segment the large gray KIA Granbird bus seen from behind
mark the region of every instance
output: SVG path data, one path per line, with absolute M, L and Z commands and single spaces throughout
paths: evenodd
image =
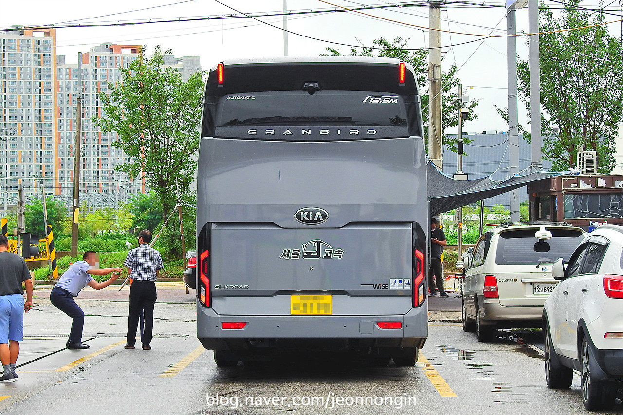
M 287 350 L 413 366 L 428 334 L 421 97 L 397 59 L 228 60 L 197 171 L 197 337 L 218 366 Z

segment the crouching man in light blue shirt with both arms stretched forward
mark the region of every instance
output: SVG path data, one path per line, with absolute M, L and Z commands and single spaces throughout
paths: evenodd
M 96 290 L 101 290 L 104 287 L 108 287 L 112 282 L 119 278 L 121 275 L 121 268 L 92 268 L 98 264 L 100 260 L 99 255 L 94 250 L 87 250 L 82 255 L 82 260 L 77 261 L 74 265 L 69 267 L 67 271 L 60 277 L 59 282 L 54 285 L 52 292 L 50 292 L 50 302 L 54 304 L 54 307 L 67 314 L 74 319 L 72 323 L 72 331 L 69 333 L 69 340 L 67 340 L 67 348 L 72 350 L 88 349 L 88 345 L 82 343 L 82 328 L 84 327 L 84 312 L 76 304 L 74 297 L 78 296 L 80 290 L 86 285 Z M 91 277 L 91 275 L 108 275 L 113 273 L 110 279 L 104 282 L 97 282 Z

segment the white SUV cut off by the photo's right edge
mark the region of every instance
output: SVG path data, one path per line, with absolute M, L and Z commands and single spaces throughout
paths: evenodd
M 623 227 L 603 225 L 578 246 L 543 308 L 545 378 L 569 388 L 581 373 L 586 409 L 609 409 L 623 378 Z

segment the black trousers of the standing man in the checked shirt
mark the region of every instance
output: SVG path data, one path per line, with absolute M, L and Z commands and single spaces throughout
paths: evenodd
M 128 315 L 128 345 L 136 343 L 136 329 L 138 316 L 143 310 L 145 328 L 143 330 L 143 345 L 151 343 L 151 334 L 154 327 L 154 304 L 156 303 L 156 284 L 153 281 L 133 280 L 130 285 L 130 315 Z

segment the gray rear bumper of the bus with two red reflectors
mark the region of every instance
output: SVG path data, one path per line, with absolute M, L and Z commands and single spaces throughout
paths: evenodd
M 240 329 L 224 329 L 224 322 L 244 322 Z M 380 328 L 379 322 L 400 322 L 401 328 Z M 207 349 L 257 348 L 422 348 L 428 336 L 424 305 L 404 315 L 235 316 L 197 309 L 197 338 Z

